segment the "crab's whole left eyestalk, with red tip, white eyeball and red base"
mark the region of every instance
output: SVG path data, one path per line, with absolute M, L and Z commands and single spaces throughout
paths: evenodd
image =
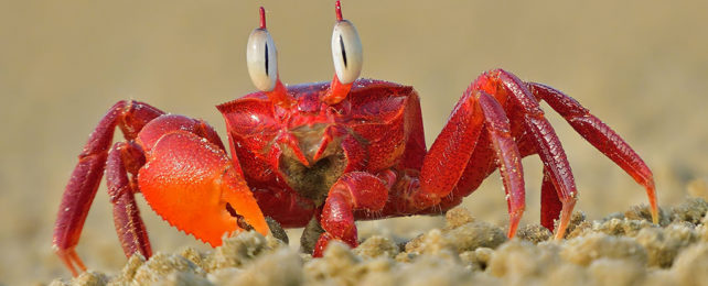
M 278 75 L 278 51 L 272 36 L 266 29 L 266 10 L 260 8 L 260 26 L 248 36 L 246 47 L 248 75 L 260 91 L 265 92 L 273 105 L 289 108 L 294 99 L 288 95 Z

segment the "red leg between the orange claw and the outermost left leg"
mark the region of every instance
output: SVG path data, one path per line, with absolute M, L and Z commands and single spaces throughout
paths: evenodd
M 128 179 L 128 170 L 133 175 L 144 164 L 144 156 L 135 143 L 118 142 L 108 153 L 106 183 L 108 196 L 114 205 L 114 223 L 126 256 L 138 252 L 143 257 L 152 256 L 146 226 L 140 218 L 135 194 L 138 185 Z

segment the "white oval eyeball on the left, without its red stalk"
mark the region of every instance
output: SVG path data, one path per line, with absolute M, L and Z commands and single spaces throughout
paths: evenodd
M 250 80 L 260 91 L 271 91 L 278 79 L 278 51 L 270 33 L 256 29 L 248 36 L 246 64 Z

